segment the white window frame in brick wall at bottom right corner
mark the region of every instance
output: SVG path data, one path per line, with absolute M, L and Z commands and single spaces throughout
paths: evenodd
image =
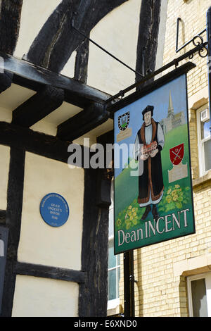
M 201 273 L 199 275 L 193 275 L 187 277 L 187 292 L 188 292 L 188 308 L 189 316 L 193 317 L 193 301 L 191 293 L 191 282 L 193 280 L 205 279 L 206 294 L 207 294 L 207 313 L 208 317 L 211 317 L 211 272 L 210 273 Z

